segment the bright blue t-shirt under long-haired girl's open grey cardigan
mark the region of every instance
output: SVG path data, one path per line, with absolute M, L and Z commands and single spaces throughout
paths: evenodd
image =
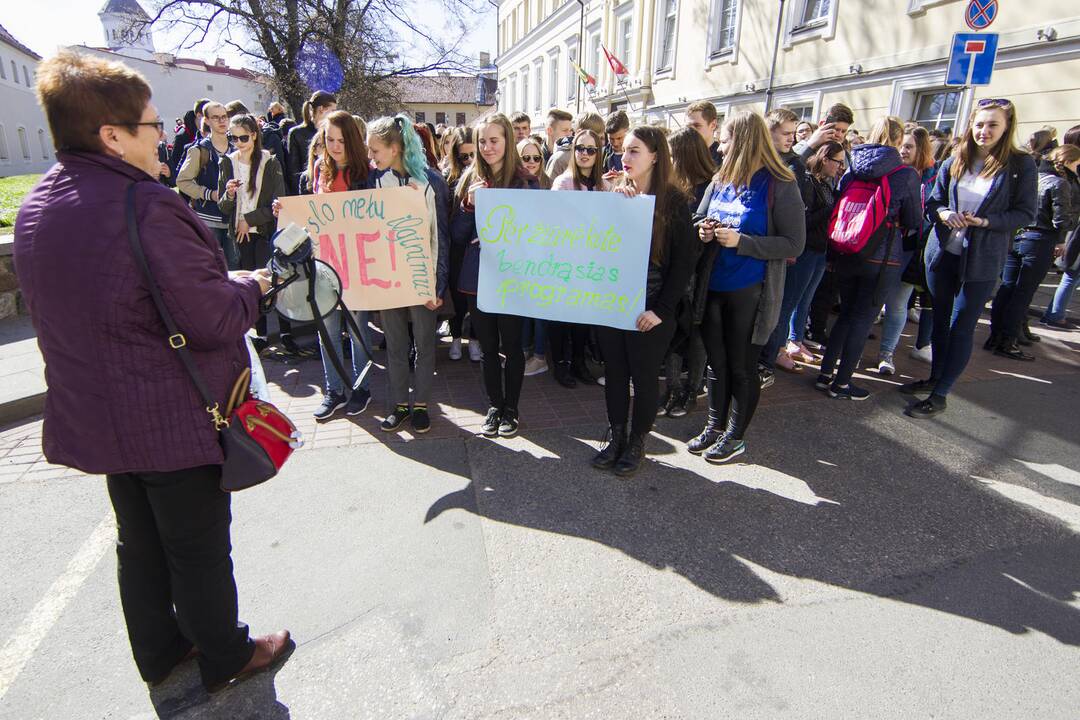
M 725 186 L 713 190 L 708 217 L 744 235 L 764 235 L 769 231 L 769 171 L 764 167 L 750 179 L 750 187 Z M 741 290 L 765 280 L 765 260 L 739 255 L 734 247 L 721 247 L 713 263 L 708 289 Z

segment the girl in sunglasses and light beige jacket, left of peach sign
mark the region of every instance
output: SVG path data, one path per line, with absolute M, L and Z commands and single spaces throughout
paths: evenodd
M 285 194 L 285 176 L 281 163 L 262 149 L 262 132 L 254 116 L 234 116 L 228 139 L 235 149 L 218 165 L 217 206 L 240 250 L 241 269 L 265 268 L 270 259 L 270 237 L 278 229 L 273 201 Z M 267 347 L 266 315 L 259 315 L 255 332 L 255 348 L 261 351 Z

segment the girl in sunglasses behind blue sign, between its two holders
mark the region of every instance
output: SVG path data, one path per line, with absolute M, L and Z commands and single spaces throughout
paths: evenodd
M 523 141 L 524 142 L 524 141 Z M 566 172 L 552 182 L 552 190 L 581 190 L 585 192 L 610 190 L 604 179 L 604 163 L 600 161 L 603 144 L 600 136 L 591 130 L 579 130 L 573 136 L 570 163 Z M 554 362 L 555 380 L 564 388 L 575 388 L 578 382 L 595 385 L 596 379 L 585 365 L 585 343 L 589 341 L 589 325 L 578 323 L 548 323 L 548 342 Z M 570 345 L 570 357 L 566 347 Z

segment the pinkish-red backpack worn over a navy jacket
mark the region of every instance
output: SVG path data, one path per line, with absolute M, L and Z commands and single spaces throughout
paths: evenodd
M 833 250 L 861 260 L 874 255 L 881 240 L 896 227 L 886 220 L 892 199 L 889 176 L 903 168 L 901 165 L 881 177 L 848 184 L 828 220 L 828 246 Z

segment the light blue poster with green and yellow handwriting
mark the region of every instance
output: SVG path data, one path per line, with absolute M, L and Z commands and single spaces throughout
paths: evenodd
M 611 192 L 476 191 L 480 309 L 636 329 L 653 205 Z

